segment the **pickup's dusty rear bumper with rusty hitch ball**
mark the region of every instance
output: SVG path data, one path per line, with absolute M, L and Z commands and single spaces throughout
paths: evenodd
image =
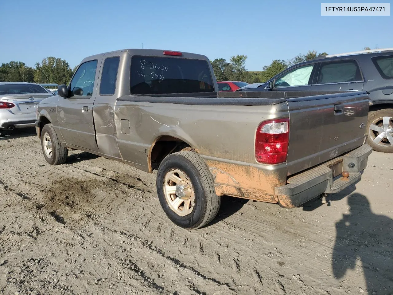
M 367 166 L 371 151 L 371 147 L 363 145 L 320 166 L 289 177 L 288 184 L 275 188 L 280 205 L 294 208 L 318 195 L 334 194 L 356 183 Z M 347 179 L 342 179 L 342 171 L 349 172 Z

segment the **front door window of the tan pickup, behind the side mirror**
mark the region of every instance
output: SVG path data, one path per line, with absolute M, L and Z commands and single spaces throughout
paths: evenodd
M 79 66 L 71 81 L 71 91 L 77 96 L 92 96 L 98 61 L 86 61 Z

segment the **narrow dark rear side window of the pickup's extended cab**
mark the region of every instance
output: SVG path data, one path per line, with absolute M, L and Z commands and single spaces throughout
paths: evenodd
M 116 77 L 118 76 L 120 57 L 108 57 L 104 61 L 102 69 L 99 94 L 111 95 L 116 90 Z

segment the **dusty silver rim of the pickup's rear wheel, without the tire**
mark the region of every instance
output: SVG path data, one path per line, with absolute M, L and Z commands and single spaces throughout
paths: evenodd
M 195 192 L 190 179 L 183 171 L 168 171 L 164 178 L 163 191 L 169 208 L 178 216 L 186 216 L 193 211 Z

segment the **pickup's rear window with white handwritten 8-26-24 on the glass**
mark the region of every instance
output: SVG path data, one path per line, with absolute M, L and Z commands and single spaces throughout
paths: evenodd
M 132 94 L 213 92 L 208 63 L 178 57 L 133 56 Z

